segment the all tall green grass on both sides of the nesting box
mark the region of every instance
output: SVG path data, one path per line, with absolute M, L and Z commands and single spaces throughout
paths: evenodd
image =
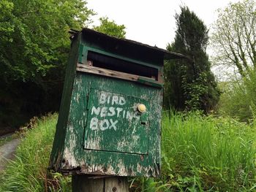
M 56 119 L 34 120 L 0 191 L 71 191 L 70 177 L 47 174 Z M 164 113 L 162 122 L 162 176 L 138 178 L 131 191 L 256 191 L 256 125 L 197 112 Z

